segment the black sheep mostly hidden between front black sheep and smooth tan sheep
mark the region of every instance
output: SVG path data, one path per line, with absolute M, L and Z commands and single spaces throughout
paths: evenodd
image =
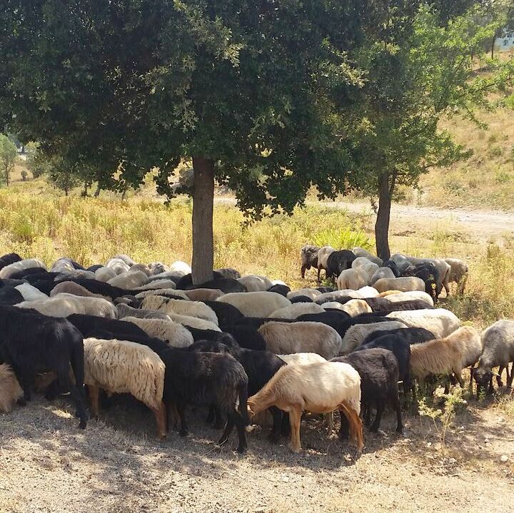
M 221 339 L 223 340 L 223 339 Z M 202 352 L 227 352 L 229 355 L 236 358 L 236 360 L 243 365 L 243 369 L 248 375 L 248 394 L 254 395 L 266 383 L 271 380 L 278 369 L 286 365 L 286 362 L 281 360 L 277 355 L 270 351 L 255 351 L 239 347 L 235 340 L 227 340 L 225 337 L 224 342 L 213 342 L 210 340 L 201 340 L 190 345 L 187 349 L 190 351 Z M 273 428 L 271 430 L 270 440 L 273 443 L 278 442 L 281 434 L 282 413 L 277 407 L 270 408 L 271 415 L 273 416 Z

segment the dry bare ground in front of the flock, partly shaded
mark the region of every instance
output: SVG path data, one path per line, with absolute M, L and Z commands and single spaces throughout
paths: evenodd
M 388 437 L 366 430 L 358 459 L 318 420 L 303 422 L 301 454 L 258 429 L 241 457 L 234 435 L 213 445 L 203 412 L 165 442 L 129 400 L 86 431 L 71 412 L 38 398 L 0 416 L 0 512 L 503 512 L 514 497 L 514 426 L 494 405 L 460 412 L 445 447 L 429 418 L 405 415 L 401 437 L 388 415 Z

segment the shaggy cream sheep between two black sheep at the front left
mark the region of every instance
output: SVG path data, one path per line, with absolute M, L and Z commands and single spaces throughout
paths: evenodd
M 84 381 L 96 418 L 100 412 L 100 389 L 109 393 L 128 392 L 150 408 L 156 417 L 158 437 L 166 437 L 164 374 L 161 358 L 144 345 L 126 340 L 84 340 Z

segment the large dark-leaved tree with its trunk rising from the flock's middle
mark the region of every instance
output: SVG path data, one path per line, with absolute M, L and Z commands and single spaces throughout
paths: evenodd
M 215 180 L 252 218 L 291 212 L 314 183 L 328 197 L 344 187 L 351 161 L 336 121 L 361 85 L 346 51 L 373 6 L 6 0 L 0 116 L 101 176 L 121 166 L 121 184 L 156 167 L 170 197 L 173 170 L 192 161 L 200 283 L 212 277 Z

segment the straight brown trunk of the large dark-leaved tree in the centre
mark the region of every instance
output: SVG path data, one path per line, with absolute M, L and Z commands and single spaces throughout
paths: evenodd
M 213 278 L 214 161 L 193 157 L 193 284 Z

